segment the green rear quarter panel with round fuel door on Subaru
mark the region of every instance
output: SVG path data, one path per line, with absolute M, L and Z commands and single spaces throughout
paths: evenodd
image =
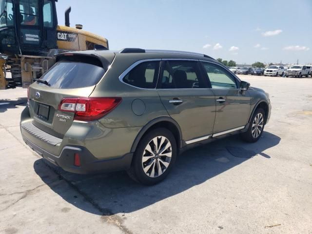
M 119 76 L 134 62 L 141 60 L 139 56 L 116 56 L 110 69 L 97 84 L 90 97 L 121 97 L 121 103 L 108 115 L 99 119 L 107 128 L 125 128 L 144 126 L 156 117 L 168 117 L 156 89 L 147 90 L 132 87 L 119 80 Z M 140 113 L 135 113 L 140 103 Z

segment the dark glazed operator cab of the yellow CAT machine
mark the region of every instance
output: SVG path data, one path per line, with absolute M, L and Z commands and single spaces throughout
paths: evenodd
M 0 0 L 0 52 L 40 55 L 57 48 L 57 0 Z

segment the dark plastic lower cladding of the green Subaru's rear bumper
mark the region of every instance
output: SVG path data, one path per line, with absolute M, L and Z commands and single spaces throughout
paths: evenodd
M 63 147 L 61 154 L 55 156 L 40 148 L 24 136 L 23 140 L 33 151 L 44 159 L 61 167 L 65 171 L 77 174 L 127 170 L 131 165 L 133 157 L 133 153 L 129 153 L 119 158 L 98 160 L 85 147 L 81 146 L 65 146 Z M 74 165 L 75 154 L 79 155 L 81 166 Z

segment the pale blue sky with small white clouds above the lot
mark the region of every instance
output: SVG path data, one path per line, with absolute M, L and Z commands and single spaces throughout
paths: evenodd
M 59 25 L 124 47 L 183 50 L 238 63 L 312 63 L 312 0 L 59 0 Z

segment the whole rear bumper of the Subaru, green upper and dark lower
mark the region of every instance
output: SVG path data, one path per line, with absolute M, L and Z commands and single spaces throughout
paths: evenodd
M 131 146 L 139 128 L 107 129 L 99 122 L 73 123 L 63 138 L 54 137 L 33 125 L 26 107 L 20 131 L 25 143 L 39 156 L 65 171 L 89 174 L 127 170 L 131 166 Z M 119 142 L 122 144 L 114 144 Z M 80 166 L 74 165 L 78 154 Z

